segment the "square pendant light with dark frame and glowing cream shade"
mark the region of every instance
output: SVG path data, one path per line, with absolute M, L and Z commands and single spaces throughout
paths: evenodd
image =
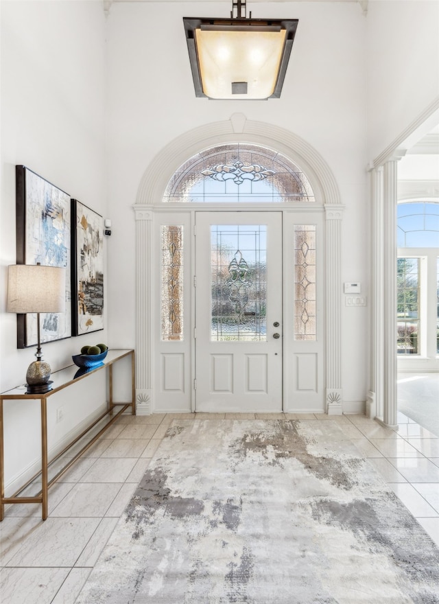
M 183 18 L 197 97 L 281 96 L 298 19 L 247 19 L 245 7 L 233 3 L 230 19 Z

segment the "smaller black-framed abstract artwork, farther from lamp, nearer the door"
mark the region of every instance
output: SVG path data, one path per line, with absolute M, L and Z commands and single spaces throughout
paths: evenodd
M 72 216 L 72 333 L 104 329 L 104 221 L 76 199 Z

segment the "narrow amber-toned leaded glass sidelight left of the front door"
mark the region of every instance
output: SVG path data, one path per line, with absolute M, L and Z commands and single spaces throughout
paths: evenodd
M 183 227 L 161 228 L 162 340 L 183 339 Z

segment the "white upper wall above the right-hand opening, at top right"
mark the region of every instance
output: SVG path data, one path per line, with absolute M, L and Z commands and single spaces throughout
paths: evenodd
M 439 2 L 370 0 L 367 24 L 368 154 L 373 160 L 439 99 Z

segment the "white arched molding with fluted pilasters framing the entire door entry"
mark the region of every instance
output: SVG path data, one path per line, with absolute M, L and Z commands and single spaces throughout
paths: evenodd
M 136 213 L 137 253 L 137 413 L 151 413 L 152 369 L 150 316 L 151 212 L 161 205 L 171 176 L 196 153 L 220 143 L 253 143 L 276 150 L 305 172 L 313 189 L 316 205 L 324 206 L 326 216 L 325 257 L 328 278 L 327 300 L 327 413 L 340 414 L 343 409 L 341 384 L 341 220 L 343 209 L 335 178 L 326 161 L 309 143 L 285 128 L 250 121 L 234 114 L 226 121 L 199 126 L 185 132 L 165 146 L 146 168 L 134 205 Z M 307 207 L 316 207 L 307 204 Z M 162 206 L 163 207 L 163 206 Z M 187 209 L 187 207 L 186 207 Z

